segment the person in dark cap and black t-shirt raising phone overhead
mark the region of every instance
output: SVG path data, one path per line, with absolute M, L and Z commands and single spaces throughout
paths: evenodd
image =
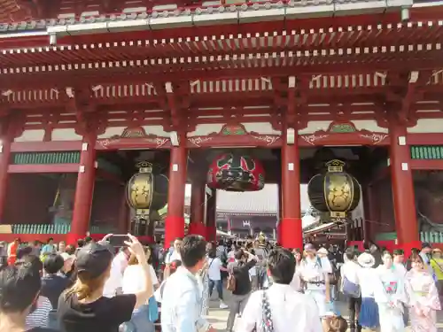
M 131 320 L 134 309 L 146 304 L 152 297 L 152 279 L 144 247 L 133 235 L 128 235 L 125 244 L 141 266 L 142 289 L 136 294 L 104 297 L 113 254 L 105 245 L 89 243 L 77 254 L 74 286 L 58 300 L 58 319 L 63 331 L 118 332 L 120 324 Z

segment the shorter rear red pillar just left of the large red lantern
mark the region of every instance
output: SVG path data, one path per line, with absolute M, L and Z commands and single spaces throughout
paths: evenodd
M 205 187 L 205 181 L 192 181 L 192 186 L 190 187 L 190 228 L 188 234 L 206 237 Z

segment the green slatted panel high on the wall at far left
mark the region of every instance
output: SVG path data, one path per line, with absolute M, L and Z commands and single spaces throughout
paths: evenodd
M 12 153 L 12 165 L 78 164 L 80 151 L 66 152 L 16 152 Z

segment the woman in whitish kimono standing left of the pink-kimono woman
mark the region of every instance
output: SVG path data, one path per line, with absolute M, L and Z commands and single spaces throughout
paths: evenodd
M 383 264 L 377 267 L 377 287 L 374 297 L 378 305 L 380 332 L 403 332 L 403 303 L 406 302 L 404 277 L 395 272 L 389 251 L 382 255 Z

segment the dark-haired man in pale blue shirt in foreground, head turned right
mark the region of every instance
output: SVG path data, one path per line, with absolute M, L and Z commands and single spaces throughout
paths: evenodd
M 215 332 L 201 317 L 203 298 L 196 274 L 206 263 L 206 241 L 199 235 L 184 237 L 182 266 L 165 283 L 161 301 L 162 332 Z

